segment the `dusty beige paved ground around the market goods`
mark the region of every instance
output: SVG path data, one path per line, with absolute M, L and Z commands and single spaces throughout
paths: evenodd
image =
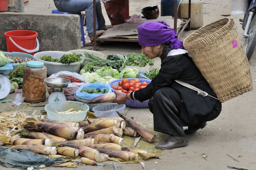
M 204 0 L 204 25 L 223 18 L 230 14 L 231 0 Z M 29 1 L 29 5 L 25 6 L 25 13 L 27 14 L 45 14 L 50 13 L 55 6 L 51 2 L 49 8 L 49 0 L 34 0 Z M 158 5 L 160 8 L 160 0 L 143 0 L 130 1 L 130 15 L 140 14 L 140 10 L 146 6 Z M 104 9 L 104 6 L 102 5 Z M 103 13 L 105 11 L 103 10 Z M 106 14 L 104 14 L 106 15 Z M 238 27 L 238 33 L 242 37 L 242 29 L 239 24 L 239 17 L 231 17 L 234 19 Z M 105 17 L 106 22 L 109 22 Z M 43 21 L 42 21 L 43 22 Z M 180 40 L 184 40 L 194 30 L 185 31 Z M 243 40 L 242 40 L 243 41 Z M 84 47 L 83 49 L 92 50 L 92 46 Z M 109 43 L 97 46 L 97 50 L 103 54 L 128 54 L 140 53 L 140 46 L 137 43 Z M 250 68 L 252 73 L 253 85 L 255 86 L 256 67 L 255 55 L 250 60 Z M 159 60 L 156 60 L 155 67 L 159 67 Z M 227 166 L 242 167 L 248 169 L 256 169 L 256 143 L 255 143 L 255 122 L 256 122 L 256 107 L 255 107 L 255 90 L 240 95 L 222 104 L 222 112 L 218 118 L 207 122 L 204 129 L 198 130 L 194 135 L 188 135 L 189 144 L 184 148 L 176 148 L 172 150 L 164 150 L 161 159 L 151 158 L 146 161 L 145 169 L 160 170 L 160 169 L 230 169 Z M 15 94 L 8 97 L 13 99 Z M 21 105 L 16 107 L 11 103 L 1 103 L 0 112 L 11 110 L 23 110 Z M 40 105 L 40 104 L 38 104 Z M 31 106 L 33 110 L 42 110 L 44 104 L 41 106 Z M 152 123 L 152 114 L 148 108 L 135 109 L 131 108 L 128 116 L 133 116 L 142 122 Z M 207 155 L 206 159 L 202 155 Z M 239 156 L 240 155 L 240 156 Z M 231 156 L 231 157 L 230 157 Z M 235 159 L 233 159 L 233 158 Z M 121 164 L 116 163 L 117 169 L 143 169 L 141 164 Z M 78 166 L 78 169 L 114 169 L 113 165 L 106 166 Z M 10 169 L 0 166 L 0 169 Z M 56 167 L 48 167 L 47 169 L 59 169 Z M 60 168 L 67 169 L 67 168 Z

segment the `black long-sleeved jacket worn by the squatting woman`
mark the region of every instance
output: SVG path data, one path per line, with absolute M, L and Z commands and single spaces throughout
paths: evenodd
M 161 58 L 159 74 L 152 79 L 148 86 L 134 92 L 134 98 L 142 102 L 151 99 L 155 91 L 161 87 L 173 88 L 180 93 L 183 102 L 180 111 L 181 125 L 195 124 L 198 121 L 197 118 L 207 116 L 219 101 L 210 96 L 198 95 L 196 91 L 175 82 L 176 79 L 189 83 L 217 98 L 193 60 L 187 54 Z M 221 108 L 221 104 L 218 105 Z

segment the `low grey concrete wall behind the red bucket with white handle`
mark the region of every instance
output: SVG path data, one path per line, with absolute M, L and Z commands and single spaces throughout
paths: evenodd
M 39 51 L 69 51 L 81 48 L 78 15 L 28 15 L 0 13 L 0 50 L 7 51 L 4 33 L 12 30 L 32 30 L 38 33 Z

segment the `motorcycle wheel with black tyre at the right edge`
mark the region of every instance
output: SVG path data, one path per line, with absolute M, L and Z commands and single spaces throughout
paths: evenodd
M 252 19 L 250 24 L 248 37 L 244 41 L 244 51 L 248 61 L 251 59 L 256 45 L 256 17 Z

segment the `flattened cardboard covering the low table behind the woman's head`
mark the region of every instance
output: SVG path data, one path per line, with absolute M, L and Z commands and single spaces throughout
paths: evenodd
M 172 29 L 174 29 L 174 20 L 172 16 L 160 16 L 157 19 L 143 19 L 144 22 L 153 21 L 165 21 Z M 177 20 L 177 29 L 181 26 L 181 21 Z M 103 33 L 99 38 L 130 38 L 138 39 L 137 27 L 143 23 L 123 23 L 115 25 L 113 28 L 109 28 L 105 33 Z

